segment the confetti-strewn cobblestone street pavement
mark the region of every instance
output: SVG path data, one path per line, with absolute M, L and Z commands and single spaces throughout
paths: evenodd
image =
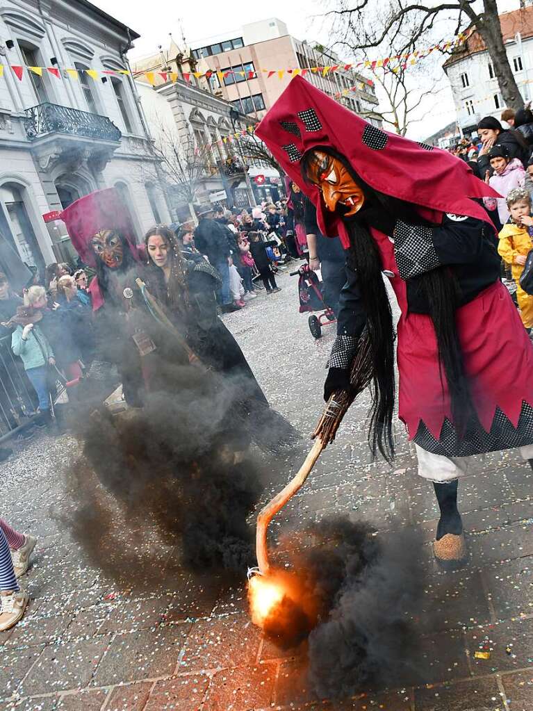
M 308 433 L 321 412 L 333 328 L 313 341 L 306 316 L 298 314 L 295 282 L 280 277 L 281 293 L 262 292 L 225 321 L 271 403 Z M 60 471 L 77 453 L 75 440 L 40 436 L 2 465 L 0 475 L 1 514 L 39 537 L 24 579 L 31 595 L 26 617 L 0 635 L 0 708 L 531 711 L 532 471 L 515 451 L 477 462 L 478 473 L 461 486 L 470 564 L 440 572 L 431 557 L 437 515 L 431 488 L 417 478 L 400 428 L 394 466 L 370 464 L 367 404 L 363 398 L 352 407 L 337 442 L 271 528 L 277 535 L 335 511 L 372 520 L 378 535 L 403 526 L 423 531 L 429 577 L 417 621 L 418 686 L 313 702 L 300 680 L 298 653 L 279 651 L 250 624 L 244 582 L 221 592 L 182 572 L 171 587 L 154 580 L 143 592 L 117 589 L 58 523 L 58 513 L 70 507 Z M 276 462 L 264 499 L 295 471 L 304 451 Z M 168 550 L 154 547 L 154 556 L 167 565 Z M 490 658 L 476 657 L 480 649 Z

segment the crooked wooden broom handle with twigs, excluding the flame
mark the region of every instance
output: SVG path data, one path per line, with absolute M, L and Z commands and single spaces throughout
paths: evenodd
M 262 574 L 268 573 L 270 567 L 269 553 L 266 547 L 266 535 L 268 533 L 269 523 L 276 513 L 285 506 L 298 489 L 306 482 L 307 477 L 311 474 L 311 471 L 313 471 L 313 466 L 315 466 L 318 457 L 321 456 L 323 449 L 335 439 L 335 434 L 337 433 L 340 422 L 342 422 L 343 417 L 348 411 L 348 407 L 350 407 L 355 400 L 355 397 L 357 397 L 362 390 L 365 390 L 365 387 L 370 383 L 373 373 L 372 358 L 370 356 L 370 340 L 365 331 L 360 338 L 357 355 L 355 356 L 350 370 L 350 390 L 338 390 L 337 392 L 333 392 L 333 395 L 330 396 L 321 419 L 318 421 L 316 429 L 313 432 L 312 437 L 315 439 L 315 443 L 306 456 L 306 461 L 303 462 L 294 479 L 291 479 L 291 481 L 262 508 L 257 516 L 255 547 L 257 565 L 259 566 L 259 572 Z

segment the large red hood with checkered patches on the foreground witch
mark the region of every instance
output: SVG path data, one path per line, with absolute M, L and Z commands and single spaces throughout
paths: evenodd
M 485 210 L 471 198 L 497 197 L 475 178 L 470 166 L 448 151 L 378 129 L 299 76 L 271 107 L 256 133 L 315 203 L 321 231 L 339 235 L 345 246 L 348 238 L 341 213 L 329 211 L 321 190 L 302 180 L 303 155 L 320 146 L 344 156 L 373 190 L 416 205 L 421 216 L 436 223 L 442 213 L 488 222 Z

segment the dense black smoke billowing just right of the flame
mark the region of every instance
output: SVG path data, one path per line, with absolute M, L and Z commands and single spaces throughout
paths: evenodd
M 290 567 L 318 606 L 308 636 L 309 687 L 318 698 L 343 698 L 402 685 L 411 673 L 412 619 L 424 591 L 421 542 L 407 532 L 383 538 L 347 518 L 323 519 L 304 535 L 313 544 L 291 553 Z

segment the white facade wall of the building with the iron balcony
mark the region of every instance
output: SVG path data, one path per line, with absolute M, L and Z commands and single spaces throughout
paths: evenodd
M 139 237 L 154 224 L 149 197 L 144 182 L 154 175 L 154 158 L 149 153 L 150 135 L 143 122 L 136 91 L 130 77 L 117 75 L 122 82 L 122 97 L 129 117 L 131 132 L 119 109 L 111 76 L 102 82 L 103 70 L 127 69 L 121 48 L 126 46 L 126 31 L 113 23 L 102 20 L 87 11 L 76 0 L 50 0 L 44 4 L 48 14 L 41 14 L 43 4 L 36 0 L 3 0 L 0 6 L 0 61 L 6 68 L 0 78 L 0 210 L 7 214 L 2 202 L 2 189 L 6 185 L 20 186 L 24 208 L 36 235 L 45 263 L 56 260 L 53 241 L 65 234 L 63 223 L 45 224 L 42 218 L 50 210 L 60 209 L 60 201 L 54 181 L 58 176 L 68 176 L 73 184 L 84 186 L 80 194 L 98 188 L 111 187 L 117 182 L 125 183 L 131 197 L 130 209 Z M 14 41 L 14 48 L 6 48 L 6 40 Z M 50 133 L 50 162 L 41 161 L 36 154 L 38 141 L 30 141 L 26 135 L 24 109 L 42 101 L 33 88 L 31 75 L 24 70 L 19 81 L 7 65 L 25 65 L 21 46 L 31 48 L 36 65 L 60 68 L 60 78 L 46 70 L 43 85 L 48 102 L 71 109 L 89 112 L 90 106 L 83 91 L 82 81 L 69 77 L 63 70 L 79 65 L 99 72 L 96 80 L 87 75 L 95 112 L 109 119 L 122 132 L 122 141 L 102 171 L 92 171 L 87 161 L 78 161 L 69 166 L 60 160 L 54 161 L 53 141 L 58 134 Z M 43 141 L 41 141 L 41 144 Z M 98 139 L 94 145 L 98 147 Z M 43 168 L 43 165 L 45 166 Z M 170 215 L 162 196 L 158 196 L 158 212 L 163 221 Z M 9 218 L 9 215 L 8 215 Z

